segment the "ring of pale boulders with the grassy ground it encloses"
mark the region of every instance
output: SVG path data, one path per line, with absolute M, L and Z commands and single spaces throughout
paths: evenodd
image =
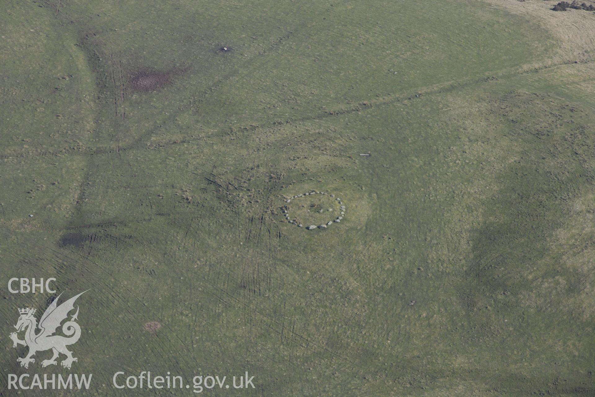
M 333 223 L 340 223 L 345 215 L 345 205 L 340 198 L 327 192 L 311 190 L 286 199 L 281 207 L 287 222 L 306 230 L 327 229 Z M 318 226 L 317 226 L 318 225 Z

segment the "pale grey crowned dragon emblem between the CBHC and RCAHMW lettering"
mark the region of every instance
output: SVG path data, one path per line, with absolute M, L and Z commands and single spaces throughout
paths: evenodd
M 25 339 L 18 339 L 17 332 L 12 332 L 10 334 L 10 339 L 12 339 L 13 348 L 17 347 L 17 345 L 29 346 L 29 354 L 27 354 L 26 357 L 17 358 L 17 362 L 21 363 L 21 367 L 29 368 L 29 363 L 35 362 L 35 358 L 32 357 L 36 352 L 49 349 L 52 349 L 54 356 L 49 360 L 43 360 L 41 362 L 42 367 L 58 364 L 56 358 L 58 358 L 60 353 L 66 356 L 66 359 L 60 362 L 62 367 L 70 368 L 74 361 L 79 361 L 76 357 L 73 357 L 72 352 L 68 351 L 66 348 L 66 346 L 76 343 L 80 338 L 80 326 L 74 321 L 77 320 L 77 316 L 79 315 L 78 306 L 76 313 L 70 318 L 70 321 L 65 322 L 62 326 L 62 333 L 68 337 L 53 334 L 56 332 L 56 329 L 60 327 L 60 323 L 68 317 L 68 312 L 74 309 L 74 301 L 85 292 L 87 291 L 73 296 L 60 306 L 58 306 L 58 299 L 62 294 L 58 295 L 58 298 L 54 299 L 45 312 L 43 312 L 43 315 L 39 319 L 39 326 L 37 326 L 37 319 L 33 317 L 35 309 L 26 308 L 18 310 L 20 317 L 18 317 L 17 325 L 14 327 L 17 329 L 17 332 L 26 329 Z M 36 333 L 38 327 L 40 332 Z

